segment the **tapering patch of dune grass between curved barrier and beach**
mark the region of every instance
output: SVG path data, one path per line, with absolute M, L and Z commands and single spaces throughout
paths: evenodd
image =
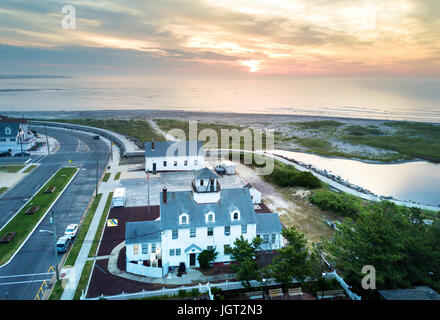
M 98 119 L 64 119 L 64 120 L 44 120 L 79 124 L 84 126 L 96 127 L 114 131 L 137 140 L 140 144 L 146 141 L 163 141 L 162 135 L 156 133 L 151 125 L 145 120 L 98 120 Z

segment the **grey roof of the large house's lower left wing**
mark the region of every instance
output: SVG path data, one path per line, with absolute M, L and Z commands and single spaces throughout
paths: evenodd
M 160 220 L 127 222 L 125 226 L 125 244 L 160 242 L 160 231 Z

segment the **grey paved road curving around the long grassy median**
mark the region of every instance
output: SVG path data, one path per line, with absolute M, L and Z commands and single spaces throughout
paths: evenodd
M 110 157 L 110 150 L 103 141 L 94 140 L 88 134 L 52 128 L 47 129 L 47 134 L 58 140 L 60 149 L 53 155 L 36 158 L 40 166 L 13 189 L 3 194 L 0 198 L 0 221 L 6 223 L 47 179 L 61 166 L 68 165 L 71 160 L 80 171 L 53 207 L 57 236 L 61 236 L 68 224 L 80 221 L 95 190 L 97 160 L 98 175 L 101 176 Z M 5 162 L 3 159 L 5 158 L 2 158 L 1 162 Z M 10 159 L 10 161 L 16 160 Z M 39 230 L 52 230 L 49 218 L 50 215 L 47 215 L 43 219 L 11 262 L 0 268 L 0 299 L 34 299 L 41 286 L 41 280 L 50 278 L 50 275 L 44 273 L 51 265 L 55 265 L 53 234 L 39 232 Z M 57 258 L 59 261 L 62 255 L 58 255 Z M 10 277 L 23 274 L 39 275 Z

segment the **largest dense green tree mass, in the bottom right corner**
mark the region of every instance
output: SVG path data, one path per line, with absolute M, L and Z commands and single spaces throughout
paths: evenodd
M 418 210 L 383 202 L 347 219 L 333 241 L 326 241 L 330 260 L 354 291 L 362 289 L 362 267 L 376 271 L 377 289 L 407 288 L 413 285 L 440 287 L 440 227 L 416 223 Z

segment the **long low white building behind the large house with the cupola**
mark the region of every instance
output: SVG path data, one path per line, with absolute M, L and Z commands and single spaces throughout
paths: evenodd
M 145 171 L 188 171 L 205 166 L 201 141 L 152 141 L 145 143 Z

